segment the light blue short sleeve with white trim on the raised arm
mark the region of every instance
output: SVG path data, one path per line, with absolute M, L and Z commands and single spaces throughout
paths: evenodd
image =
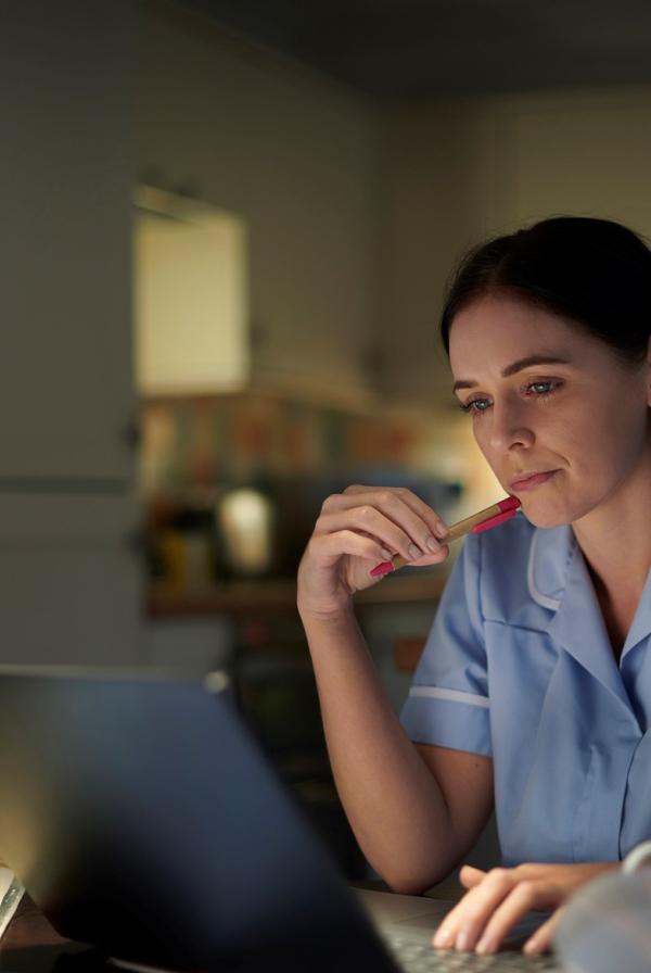
M 480 606 L 481 538 L 467 538 L 446 584 L 400 722 L 414 743 L 492 755 Z

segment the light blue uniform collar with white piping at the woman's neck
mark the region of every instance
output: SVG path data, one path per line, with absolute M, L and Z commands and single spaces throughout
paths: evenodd
M 592 580 L 570 526 L 538 528 L 533 532 L 527 584 L 532 598 L 552 612 L 547 627 L 549 635 L 630 712 Z M 651 612 L 644 610 L 646 603 L 642 596 L 626 650 L 633 647 L 634 639 L 637 643 L 651 630 Z

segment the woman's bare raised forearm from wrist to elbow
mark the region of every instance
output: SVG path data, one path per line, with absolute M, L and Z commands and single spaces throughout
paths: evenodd
M 353 610 L 329 619 L 304 615 L 303 622 L 350 825 L 390 885 L 422 892 L 458 858 L 441 787 L 384 695 Z

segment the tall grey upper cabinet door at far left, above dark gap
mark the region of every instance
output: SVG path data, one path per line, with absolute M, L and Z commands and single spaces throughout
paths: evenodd
M 0 10 L 0 479 L 118 479 L 135 415 L 129 0 Z

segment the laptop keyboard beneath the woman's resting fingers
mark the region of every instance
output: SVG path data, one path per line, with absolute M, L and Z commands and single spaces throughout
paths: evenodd
M 388 951 L 403 973 L 457 973 L 457 971 L 489 970 L 490 973 L 560 973 L 561 966 L 553 956 L 524 956 L 522 952 L 503 951 L 493 956 L 476 952 L 454 952 L 433 949 L 424 943 L 390 933 L 383 935 Z

